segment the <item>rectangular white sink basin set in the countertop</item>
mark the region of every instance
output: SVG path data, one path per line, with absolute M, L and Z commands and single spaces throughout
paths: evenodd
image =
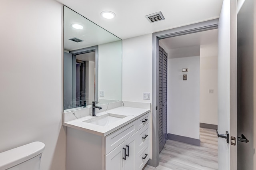
M 95 117 L 86 121 L 83 121 L 85 123 L 92 123 L 94 125 L 99 125 L 99 126 L 108 126 L 111 123 L 114 123 L 116 121 L 119 121 L 123 118 L 125 118 L 126 116 L 123 115 L 116 115 L 116 114 L 112 114 L 112 113 L 107 113 L 106 115 L 101 115 L 99 117 Z

